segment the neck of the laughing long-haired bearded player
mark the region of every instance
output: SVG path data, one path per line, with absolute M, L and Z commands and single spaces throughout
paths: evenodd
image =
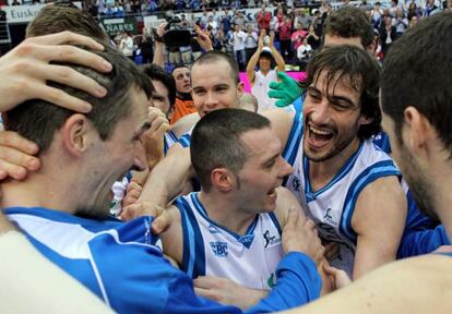
M 340 154 L 323 161 L 309 160 L 309 180 L 313 191 L 318 191 L 325 186 L 337 172 L 344 167 L 345 162 L 359 148 L 360 141 L 355 138 Z

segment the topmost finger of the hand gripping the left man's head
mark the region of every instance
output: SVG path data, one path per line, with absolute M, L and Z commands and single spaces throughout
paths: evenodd
M 51 35 L 32 37 L 26 39 L 28 43 L 36 43 L 40 45 L 61 45 L 61 44 L 72 44 L 85 46 L 94 50 L 104 50 L 104 46 L 94 40 L 93 38 L 79 35 L 71 32 L 61 32 Z

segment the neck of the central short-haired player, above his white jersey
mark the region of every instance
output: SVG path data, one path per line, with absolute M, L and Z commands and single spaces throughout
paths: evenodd
M 207 212 L 209 218 L 218 224 L 222 227 L 227 228 L 238 234 L 245 234 L 248 227 L 254 220 L 255 214 L 247 214 L 245 210 L 235 207 L 231 204 L 234 200 L 230 200 L 228 195 L 219 195 L 221 192 L 210 193 L 200 192 L 199 198 L 201 204 Z

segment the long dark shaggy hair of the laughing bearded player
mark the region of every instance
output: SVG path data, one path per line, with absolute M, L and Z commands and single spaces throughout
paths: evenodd
M 336 85 L 342 78 L 349 80 L 350 87 L 359 93 L 360 114 L 371 118 L 372 122 L 360 125 L 359 140 L 370 138 L 381 131 L 381 110 L 378 101 L 380 65 L 365 50 L 348 46 L 326 47 L 308 63 L 306 81 L 308 87 L 326 72 L 326 82 Z M 328 86 L 328 88 L 329 88 Z

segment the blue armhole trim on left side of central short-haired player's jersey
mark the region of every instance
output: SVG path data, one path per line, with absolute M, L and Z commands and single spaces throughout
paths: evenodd
M 197 218 L 190 204 L 183 197 L 178 197 L 174 205 L 179 208 L 182 224 L 183 253 L 181 269 L 191 278 L 205 276 L 204 241 Z

